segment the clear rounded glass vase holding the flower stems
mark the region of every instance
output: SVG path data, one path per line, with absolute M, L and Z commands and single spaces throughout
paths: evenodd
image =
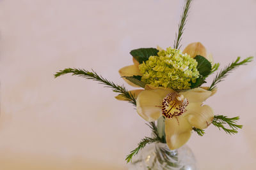
M 195 170 L 196 160 L 191 149 L 184 145 L 177 150 L 170 150 L 166 143 L 152 143 L 141 150 L 132 162 L 129 169 L 182 169 Z

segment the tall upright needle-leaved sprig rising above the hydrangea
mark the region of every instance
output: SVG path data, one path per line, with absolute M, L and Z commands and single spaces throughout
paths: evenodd
M 178 30 L 178 34 L 175 34 L 175 40 L 174 40 L 174 48 L 175 49 L 180 49 L 181 45 L 180 45 L 180 41 L 182 39 L 182 34 L 184 32 L 184 26 L 186 25 L 186 21 L 188 18 L 188 11 L 190 8 L 190 4 L 191 4 L 192 0 L 186 0 L 185 1 L 185 5 L 183 7 L 183 12 L 182 12 L 182 16 L 180 17 L 180 23 L 179 23 L 179 30 Z

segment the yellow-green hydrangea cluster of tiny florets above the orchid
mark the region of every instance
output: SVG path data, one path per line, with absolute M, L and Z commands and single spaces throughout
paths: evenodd
M 139 65 L 143 74 L 141 81 L 155 87 L 171 89 L 190 89 L 199 77 L 197 62 L 188 54 L 171 47 L 161 50 L 158 56 L 150 56 L 146 62 Z

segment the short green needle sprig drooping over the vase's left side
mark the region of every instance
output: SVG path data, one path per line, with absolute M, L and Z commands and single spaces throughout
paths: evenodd
M 137 155 L 138 152 L 139 152 L 141 149 L 143 149 L 147 144 L 154 143 L 154 142 L 157 142 L 157 141 L 159 141 L 158 138 L 148 138 L 148 137 L 143 138 L 143 139 L 141 140 L 141 142 L 138 143 L 138 147 L 135 148 L 134 150 L 132 150 L 132 152 L 130 152 L 130 154 L 127 155 L 127 157 L 126 157 L 125 160 L 127 161 L 127 163 L 128 163 L 128 162 L 131 162 L 132 157 L 133 157 L 134 155 Z

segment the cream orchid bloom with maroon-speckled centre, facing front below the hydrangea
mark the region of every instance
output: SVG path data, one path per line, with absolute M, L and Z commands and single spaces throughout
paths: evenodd
M 137 112 L 148 122 L 163 116 L 166 143 L 175 150 L 188 141 L 193 127 L 205 129 L 211 124 L 212 108 L 202 103 L 212 94 L 200 87 L 179 93 L 172 89 L 143 90 L 136 99 Z

